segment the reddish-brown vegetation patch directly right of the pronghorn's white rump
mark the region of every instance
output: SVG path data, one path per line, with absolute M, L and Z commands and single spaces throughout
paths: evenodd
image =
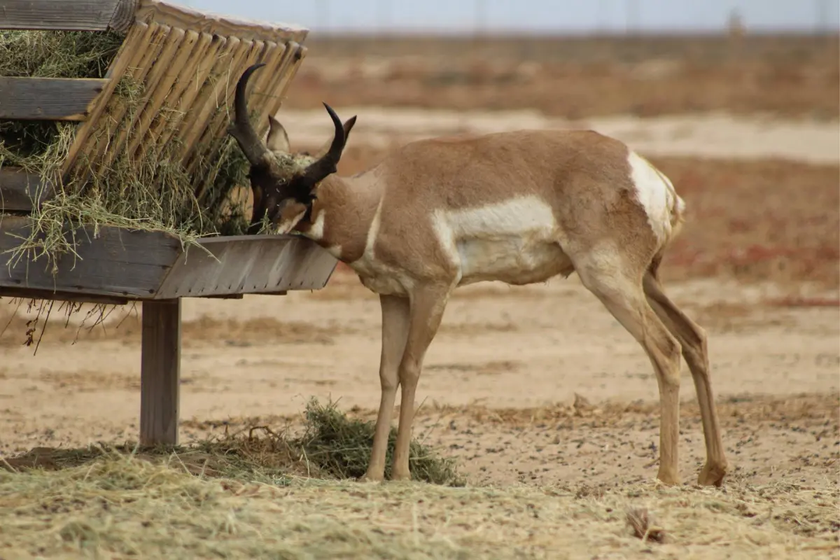
M 837 166 L 653 160 L 689 207 L 664 275 L 840 285 Z

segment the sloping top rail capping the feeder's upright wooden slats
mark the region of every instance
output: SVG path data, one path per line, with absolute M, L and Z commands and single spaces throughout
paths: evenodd
M 244 18 L 207 13 L 200 10 L 175 6 L 160 0 L 142 0 L 136 12 L 138 20 L 192 29 L 202 33 L 238 37 L 244 41 L 270 40 L 285 43 L 294 40 L 301 43 L 306 39 L 308 29 L 291 24 L 266 24 Z

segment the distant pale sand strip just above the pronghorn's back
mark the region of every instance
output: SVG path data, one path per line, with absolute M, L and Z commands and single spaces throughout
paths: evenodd
M 389 107 L 333 107 L 339 117 L 358 115 L 354 146 L 393 144 L 456 133 L 484 134 L 520 128 L 591 128 L 649 155 L 708 158 L 784 158 L 816 164 L 840 161 L 840 123 L 810 119 L 732 116 L 726 113 L 657 118 L 614 116 L 569 121 L 528 110 L 446 111 Z M 323 109 L 281 110 L 276 117 L 292 145 L 321 144 L 332 133 Z

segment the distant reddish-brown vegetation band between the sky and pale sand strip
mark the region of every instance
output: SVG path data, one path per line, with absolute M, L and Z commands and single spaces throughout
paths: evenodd
M 840 115 L 837 36 L 318 39 L 286 107 Z

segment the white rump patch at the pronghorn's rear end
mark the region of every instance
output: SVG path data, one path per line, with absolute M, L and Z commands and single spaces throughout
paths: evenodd
M 682 212 L 685 202 L 677 196 L 669 179 L 641 155 L 630 150 L 627 163 L 630 164 L 630 178 L 636 186 L 636 196 L 648 215 L 650 228 L 659 243 L 666 243 L 671 236 L 675 206 Z

